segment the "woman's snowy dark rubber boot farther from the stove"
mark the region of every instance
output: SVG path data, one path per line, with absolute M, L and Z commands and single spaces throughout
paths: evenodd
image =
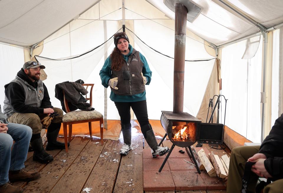
M 124 145 L 122 146 L 120 150 L 120 154 L 122 156 L 128 155 L 129 151 L 132 149 L 131 148 L 131 138 L 132 138 L 132 133 L 131 133 L 131 123 L 129 124 L 121 124 L 122 127 L 122 133 L 123 133 L 123 138 L 124 138 Z

